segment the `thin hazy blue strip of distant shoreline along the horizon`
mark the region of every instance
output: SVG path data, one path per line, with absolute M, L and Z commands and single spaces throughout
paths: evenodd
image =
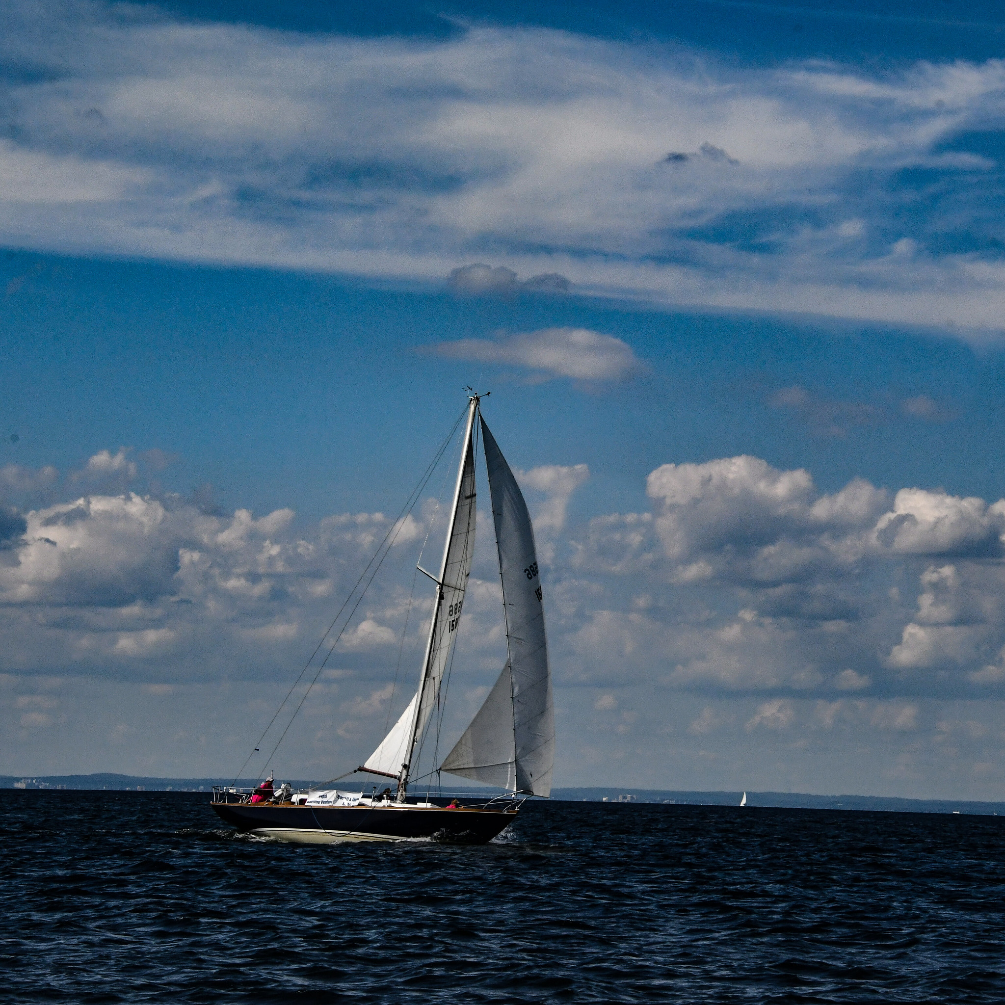
M 283 779 L 293 788 L 306 788 L 312 782 Z M 38 775 L 35 777 L 0 775 L 0 789 L 45 791 L 109 792 L 204 792 L 214 785 L 232 785 L 229 778 L 155 778 L 140 775 L 98 773 L 92 775 Z M 240 779 L 240 786 L 255 784 L 254 779 Z M 317 783 L 315 783 L 317 784 Z M 348 786 L 352 787 L 352 786 Z M 446 787 L 445 787 L 446 788 Z M 464 786 L 450 791 L 463 792 Z M 557 788 L 552 799 L 567 802 L 620 802 L 675 804 L 679 806 L 738 806 L 741 792 L 682 791 L 632 788 Z M 960 813 L 981 816 L 1005 816 L 1005 802 L 980 802 L 966 799 L 906 799 L 896 796 L 827 796 L 805 792 L 747 792 L 747 806 L 777 809 L 872 810 L 894 813 Z

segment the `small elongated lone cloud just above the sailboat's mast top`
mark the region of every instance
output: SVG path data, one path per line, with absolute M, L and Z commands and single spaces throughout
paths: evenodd
M 627 343 L 585 328 L 546 328 L 494 340 L 440 342 L 431 348 L 450 359 L 520 367 L 545 379 L 618 381 L 642 370 Z

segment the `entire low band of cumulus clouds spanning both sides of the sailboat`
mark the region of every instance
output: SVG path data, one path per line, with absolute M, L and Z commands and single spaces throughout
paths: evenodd
M 98 456 L 113 468 L 129 462 L 128 453 Z M 852 752 L 889 753 L 891 779 L 909 771 L 910 745 L 937 737 L 940 757 L 977 744 L 993 759 L 1005 565 L 988 557 L 987 534 L 1001 504 L 887 493 L 862 479 L 821 492 L 807 470 L 741 456 L 660 465 L 648 481 L 651 512 L 587 519 L 569 506 L 587 475 L 585 465 L 519 472 L 551 550 L 556 705 L 560 715 L 579 709 L 575 728 L 564 727 L 570 743 L 603 736 L 615 745 L 604 758 L 615 759 L 660 744 L 699 745 L 710 757 L 748 745 L 760 752 L 755 763 L 826 734 Z M 904 515 L 917 526 L 894 526 Z M 135 490 L 78 493 L 16 519 L 23 529 L 0 556 L 0 720 L 22 744 L 64 728 L 76 686 L 67 680 L 146 688 L 160 716 L 194 686 L 239 680 L 244 692 L 268 681 L 260 708 L 241 706 L 267 721 L 271 682 L 303 665 L 392 529 L 382 514 L 301 527 L 286 508 L 207 512 Z M 411 672 L 430 604 L 428 592 L 407 588 L 425 528 L 410 518 L 398 531 L 410 547 L 391 551 L 386 582 L 368 594 L 305 707 L 319 763 L 330 764 L 343 739 L 349 758 L 376 744 L 408 697 L 413 677 L 393 684 L 398 651 L 404 642 L 401 670 Z M 490 535 L 478 540 L 453 668 L 461 712 L 505 660 L 495 556 Z M 128 740 L 121 715 L 103 724 Z M 910 770 L 925 778 L 922 761 Z

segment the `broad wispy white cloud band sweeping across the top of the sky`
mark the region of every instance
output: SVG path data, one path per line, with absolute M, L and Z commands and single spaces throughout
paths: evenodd
M 545 29 L 305 36 L 72 2 L 5 23 L 0 54 L 33 67 L 3 113 L 9 243 L 430 281 L 477 258 L 585 292 L 1002 331 L 1005 260 L 980 239 L 1002 168 L 965 142 L 1005 111 L 998 60 L 738 68 Z

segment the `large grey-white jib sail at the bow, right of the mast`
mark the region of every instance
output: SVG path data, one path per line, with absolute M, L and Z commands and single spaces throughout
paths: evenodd
M 453 775 L 548 796 L 555 764 L 555 715 L 534 528 L 517 479 L 484 419 L 481 433 L 510 658 L 441 767 Z M 508 687 L 510 702 L 505 701 Z

